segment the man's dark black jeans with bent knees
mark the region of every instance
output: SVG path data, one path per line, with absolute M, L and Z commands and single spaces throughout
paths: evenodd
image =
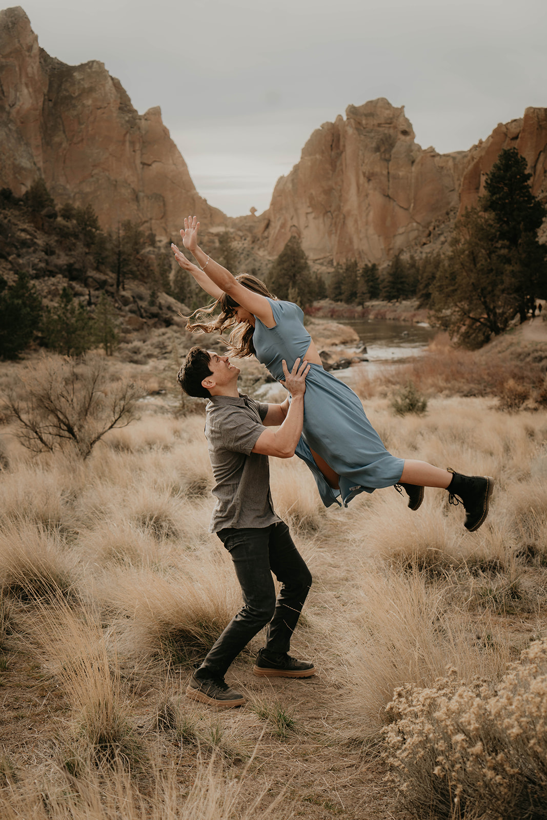
M 289 651 L 312 575 L 284 522 L 261 529 L 225 529 L 217 535 L 234 562 L 244 599 L 243 609 L 226 626 L 202 664 L 207 671 L 224 677 L 234 658 L 267 624 L 266 649 Z M 281 583 L 277 599 L 272 572 Z

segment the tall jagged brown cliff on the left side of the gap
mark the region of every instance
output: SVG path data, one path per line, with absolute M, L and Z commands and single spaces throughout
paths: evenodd
M 159 108 L 139 115 L 102 62 L 49 57 L 21 7 L 0 12 L 0 156 L 0 187 L 21 195 L 41 175 L 104 228 L 130 219 L 169 238 L 184 214 L 227 221 L 198 195 Z

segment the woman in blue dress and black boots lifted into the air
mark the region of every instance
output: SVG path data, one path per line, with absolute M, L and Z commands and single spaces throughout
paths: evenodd
M 175 244 L 171 248 L 180 267 L 194 276 L 215 303 L 202 312 L 202 317 L 208 314 L 209 321 L 189 322 L 187 328 L 206 333 L 232 328 L 230 345 L 235 356 L 254 353 L 276 380 L 283 379 L 282 359 L 289 367 L 296 358 L 311 365 L 306 378 L 303 433 L 296 453 L 312 470 L 325 506 L 346 506 L 359 493 L 400 485 L 408 494 L 409 508 L 417 510 L 424 486 L 442 487 L 449 490 L 450 503 L 458 503 L 458 499 L 463 503 L 467 530 L 477 530 L 488 514 L 493 480 L 489 476 L 463 476 L 388 453 L 358 396 L 323 369 L 298 305 L 277 300 L 254 276 L 232 276 L 199 248 L 198 228 L 196 216 L 189 216 L 180 235 L 199 267 Z M 213 320 L 217 307 L 221 313 Z

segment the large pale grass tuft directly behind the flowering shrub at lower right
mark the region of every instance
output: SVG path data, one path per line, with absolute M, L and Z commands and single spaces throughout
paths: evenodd
M 363 737 L 385 722 L 385 708 L 404 683 L 429 686 L 450 666 L 465 681 L 496 680 L 504 672 L 504 642 L 476 640 L 472 621 L 449 605 L 439 581 L 420 572 L 362 569 L 359 591 L 353 617 L 340 613 L 338 626 L 348 703 L 361 716 Z

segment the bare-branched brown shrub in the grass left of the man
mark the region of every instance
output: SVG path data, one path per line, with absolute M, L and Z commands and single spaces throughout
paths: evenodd
M 21 375 L 22 396 L 7 393 L 5 406 L 18 422 L 17 437 L 33 453 L 69 446 L 81 458 L 114 427 L 134 418 L 139 385 L 112 380 L 98 357 L 60 356 L 28 365 Z

